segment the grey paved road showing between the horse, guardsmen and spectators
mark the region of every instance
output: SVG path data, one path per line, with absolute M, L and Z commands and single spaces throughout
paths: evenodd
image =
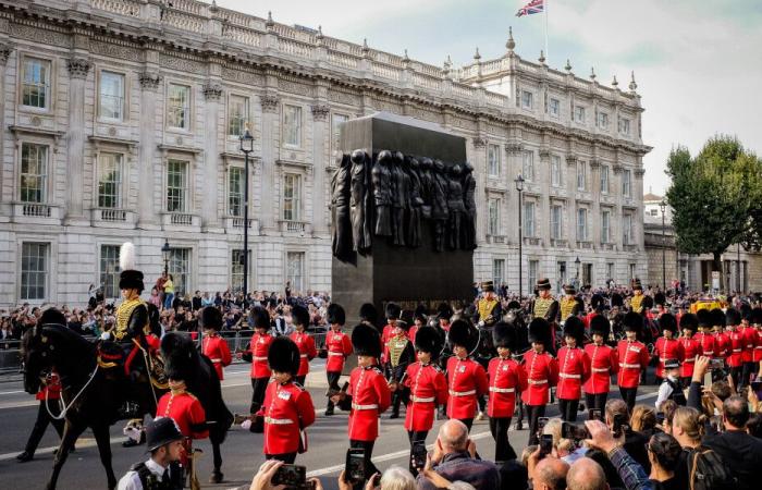
M 318 408 L 318 419 L 309 429 L 309 451 L 297 457 L 297 464 L 305 465 L 311 476 L 319 476 L 325 490 L 336 488 L 335 478 L 343 468 L 344 454 L 348 445 L 346 438 L 346 414 L 339 412 L 339 415 L 325 417 L 322 415 L 324 408 L 324 381 L 321 376 L 322 360 L 316 359 L 312 369 L 315 375 L 310 375 L 307 380 L 307 388 L 312 395 L 312 400 Z M 647 385 L 640 390 L 640 399 L 644 403 L 653 403 L 655 400 L 656 387 Z M 225 372 L 223 382 L 223 395 L 232 412 L 243 413 L 247 411 L 250 400 L 251 388 L 248 377 L 248 366 L 233 366 Z M 614 387 L 612 396 L 618 396 L 618 390 Z M 20 464 L 15 461 L 15 455 L 20 453 L 26 442 L 26 438 L 32 429 L 37 414 L 37 402 L 33 396 L 23 391 L 21 383 L 0 383 L 0 479 L 3 482 L 16 482 L 19 488 L 33 489 L 44 488 L 52 466 L 52 451 L 58 446 L 58 437 L 52 427 L 48 429 L 40 450 L 35 460 Z M 549 407 L 549 416 L 557 415 L 557 407 Z M 428 442 L 435 439 L 437 426 L 429 433 Z M 124 449 L 121 441 L 124 437 L 121 433 L 121 425 L 116 425 L 111 430 L 113 449 L 114 471 L 121 476 L 133 464 L 144 458 L 145 446 Z M 77 442 L 77 450 L 71 454 L 64 466 L 59 488 L 62 489 L 102 489 L 106 488 L 106 474 L 103 473 L 98 450 L 91 434 L 85 432 Z M 477 443 L 477 448 L 482 457 L 492 458 L 494 455 L 494 442 L 489 433 L 487 420 L 475 422 L 471 430 L 471 439 Z M 511 432 L 511 441 L 516 450 L 520 452 L 528 440 L 526 430 Z M 223 473 L 225 482 L 221 485 L 206 483 L 211 473 L 211 446 L 206 441 L 200 441 L 197 446 L 204 450 L 199 465 L 199 478 L 205 488 L 248 488 L 256 468 L 263 461 L 262 437 L 253 434 L 241 428 L 233 428 L 222 446 L 224 458 Z M 406 465 L 409 445 L 407 433 L 402 427 L 402 420 L 389 420 L 384 415 L 381 420 L 381 436 L 373 450 L 373 461 L 381 469 L 393 464 Z M 11 488 L 3 483 L 2 487 Z

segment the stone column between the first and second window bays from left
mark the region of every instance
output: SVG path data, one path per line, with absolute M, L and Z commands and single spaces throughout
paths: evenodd
M 66 222 L 86 222 L 84 212 L 85 79 L 93 63 L 87 58 L 70 58 L 69 132 L 66 134 Z

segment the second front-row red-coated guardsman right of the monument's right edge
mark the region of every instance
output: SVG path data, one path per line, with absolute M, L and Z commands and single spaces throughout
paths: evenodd
M 550 390 L 558 382 L 558 363 L 545 346 L 551 345 L 551 326 L 542 317 L 529 323 L 529 342 L 532 348 L 524 354 L 524 371 L 527 373 L 527 389 L 521 400 L 529 416 L 529 444 L 537 444 L 538 419 L 545 416 L 545 405 L 550 400 Z

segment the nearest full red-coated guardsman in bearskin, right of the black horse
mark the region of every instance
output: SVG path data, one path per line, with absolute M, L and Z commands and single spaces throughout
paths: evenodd
M 293 340 L 279 336 L 270 344 L 267 356 L 272 380 L 257 414 L 265 422 L 262 452 L 266 460 L 294 464 L 296 453 L 307 451 L 305 429 L 315 422 L 312 397 L 294 381 L 300 369 L 302 351 Z

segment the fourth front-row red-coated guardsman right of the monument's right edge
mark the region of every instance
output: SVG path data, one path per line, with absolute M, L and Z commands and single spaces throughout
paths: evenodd
M 603 315 L 590 319 L 592 343 L 585 346 L 590 357 L 590 378 L 585 382 L 585 402 L 588 409 L 603 413 L 609 397 L 611 376 L 619 372 L 619 358 L 616 350 L 606 345 L 611 333 L 611 322 Z

